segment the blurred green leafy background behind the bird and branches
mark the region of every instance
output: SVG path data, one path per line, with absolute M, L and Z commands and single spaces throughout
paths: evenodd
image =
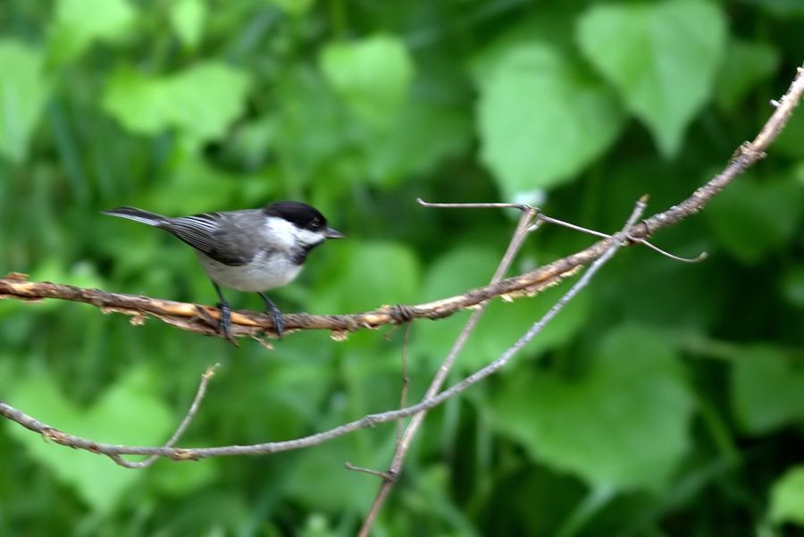
M 804 50 L 797 0 L 4 0 L 0 273 L 214 302 L 187 248 L 106 218 L 319 206 L 288 311 L 344 313 L 487 281 L 523 200 L 613 231 L 752 138 Z M 804 112 L 749 176 L 631 248 L 504 373 L 433 412 L 378 535 L 792 533 L 804 524 Z M 592 239 L 546 229 L 516 270 Z M 495 302 L 457 365 L 549 306 Z M 253 296 L 230 293 L 240 307 Z M 415 323 L 412 397 L 465 315 Z M 182 442 L 282 440 L 398 405 L 402 331 L 232 348 L 63 302 L 0 303 L 0 397 L 66 431 L 156 444 L 220 362 Z M 0 533 L 356 530 L 394 428 L 146 471 L 0 424 Z

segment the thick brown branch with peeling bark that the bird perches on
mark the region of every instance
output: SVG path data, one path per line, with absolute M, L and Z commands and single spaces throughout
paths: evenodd
M 799 67 L 790 88 L 779 101 L 774 102 L 775 111 L 760 130 L 757 138 L 743 143 L 734 152 L 724 171 L 695 190 L 690 197 L 678 205 L 661 213 L 653 214 L 632 226 L 632 229 L 628 230 L 629 241 L 639 242 L 641 239 L 647 239 L 654 232 L 698 213 L 728 183 L 756 164 L 758 160 L 764 158 L 767 147 L 787 124 L 793 110 L 799 105 L 802 94 L 804 94 L 804 67 Z M 342 334 L 361 328 L 378 328 L 384 324 L 406 323 L 412 319 L 440 319 L 467 307 L 482 304 L 490 298 L 531 295 L 540 289 L 554 285 L 583 265 L 590 264 L 602 256 L 609 245 L 609 239 L 599 240 L 589 248 L 557 259 L 532 272 L 472 289 L 455 297 L 442 298 L 415 306 L 381 306 L 370 312 L 351 315 L 285 315 L 286 329 L 288 331 L 331 330 Z M 42 298 L 58 298 L 84 302 L 99 307 L 105 312 L 133 315 L 134 323 L 141 323 L 147 316 L 152 316 L 183 330 L 210 335 L 217 334 L 216 323 L 211 320 L 216 322 L 220 315 L 217 308 L 210 306 L 108 293 L 100 289 L 84 289 L 46 281 L 27 281 L 24 275 L 17 273 L 0 279 L 0 298 L 34 301 Z M 273 330 L 270 316 L 254 312 L 232 312 L 231 323 L 233 336 L 259 337 L 265 332 Z

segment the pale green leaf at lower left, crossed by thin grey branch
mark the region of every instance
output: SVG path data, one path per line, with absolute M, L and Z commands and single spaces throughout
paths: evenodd
M 120 444 L 158 445 L 170 435 L 174 418 L 149 393 L 153 382 L 134 370 L 113 385 L 92 407 L 76 407 L 46 373 L 21 379 L 10 395 L 14 405 L 46 424 L 71 434 Z M 178 423 L 178 422 L 177 422 Z M 67 449 L 14 425 L 8 429 L 40 464 L 71 484 L 97 511 L 109 511 L 144 474 L 115 465 L 106 457 Z

